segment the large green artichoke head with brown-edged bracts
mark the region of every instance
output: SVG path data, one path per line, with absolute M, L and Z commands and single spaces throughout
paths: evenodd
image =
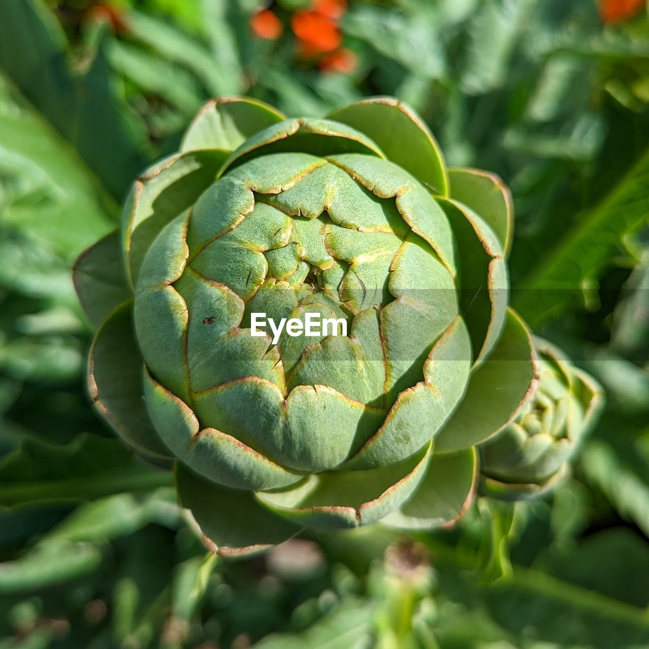
M 476 445 L 537 381 L 508 308 L 512 219 L 500 179 L 447 169 L 394 99 L 327 119 L 212 101 L 75 267 L 95 405 L 175 467 L 221 554 L 452 524 Z

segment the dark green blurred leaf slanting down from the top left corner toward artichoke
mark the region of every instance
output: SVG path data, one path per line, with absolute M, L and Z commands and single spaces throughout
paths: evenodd
M 3 3 L 0 70 L 121 199 L 145 166 L 145 133 L 114 92 L 103 43 L 83 74 L 71 71 L 66 50 L 62 27 L 42 0 Z

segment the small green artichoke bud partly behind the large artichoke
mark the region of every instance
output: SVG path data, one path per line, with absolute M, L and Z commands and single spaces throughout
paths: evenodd
M 600 385 L 554 345 L 535 339 L 539 383 L 517 417 L 480 446 L 482 493 L 522 500 L 552 488 L 568 471 L 603 404 Z

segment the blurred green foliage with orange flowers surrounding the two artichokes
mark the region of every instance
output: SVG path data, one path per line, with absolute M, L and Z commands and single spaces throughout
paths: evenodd
M 397 95 L 511 185 L 514 304 L 607 391 L 554 495 L 205 555 L 171 477 L 93 415 L 69 267 L 232 94 Z M 648 188 L 643 1 L 3 0 L 0 648 L 648 647 Z

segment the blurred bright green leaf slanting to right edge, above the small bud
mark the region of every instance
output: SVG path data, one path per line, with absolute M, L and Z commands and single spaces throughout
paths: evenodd
M 649 151 L 520 281 L 513 303 L 532 326 L 582 303 L 582 289 L 622 247 L 622 238 L 647 223 L 648 182 Z

